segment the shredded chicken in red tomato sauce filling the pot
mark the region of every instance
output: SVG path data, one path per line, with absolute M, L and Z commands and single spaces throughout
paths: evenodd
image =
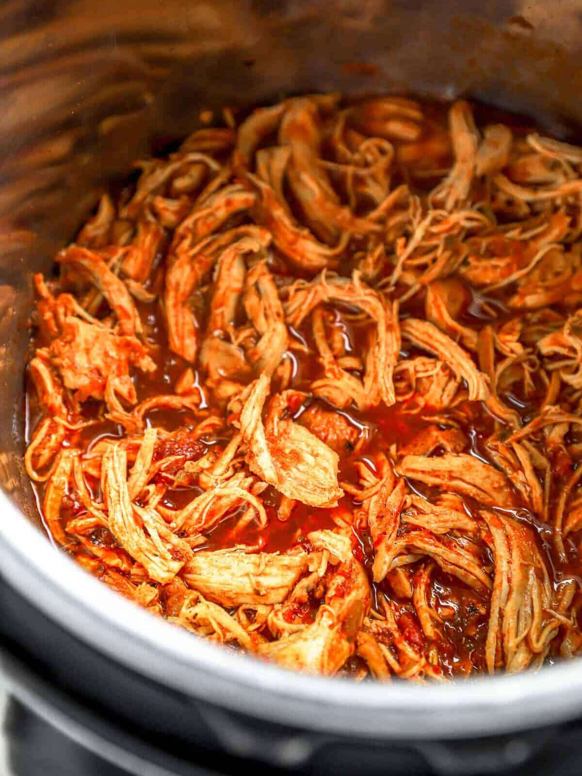
M 443 679 L 582 634 L 582 149 L 467 102 L 196 130 L 37 276 L 54 542 L 199 636 Z

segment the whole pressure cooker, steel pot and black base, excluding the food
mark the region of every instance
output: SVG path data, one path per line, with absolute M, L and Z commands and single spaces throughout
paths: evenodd
M 579 773 L 582 663 L 451 684 L 307 677 L 151 617 L 59 552 L 23 469 L 34 272 L 201 109 L 467 95 L 582 124 L 582 2 L 7 0 L 0 8 L 0 646 L 12 771 Z

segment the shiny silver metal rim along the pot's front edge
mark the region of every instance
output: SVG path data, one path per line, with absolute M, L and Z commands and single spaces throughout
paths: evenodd
M 445 688 L 311 677 L 220 649 L 110 590 L 2 493 L 0 514 L 0 573 L 12 587 L 95 650 L 190 698 L 301 729 L 379 739 L 487 736 L 582 712 L 580 660 Z

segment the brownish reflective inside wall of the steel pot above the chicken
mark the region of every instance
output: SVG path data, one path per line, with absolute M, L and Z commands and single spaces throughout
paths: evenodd
M 582 123 L 582 2 L 50 0 L 0 16 L 0 485 L 23 472 L 34 272 L 99 192 L 202 108 L 308 91 L 469 95 L 560 137 Z

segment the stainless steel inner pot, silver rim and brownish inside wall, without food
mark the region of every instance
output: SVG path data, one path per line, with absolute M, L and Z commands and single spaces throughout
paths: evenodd
M 469 95 L 568 137 L 582 2 L 9 0 L 0 10 L 0 574 L 61 629 L 171 691 L 306 730 L 434 739 L 582 712 L 582 663 L 449 686 L 355 684 L 227 653 L 140 611 L 50 545 L 23 472 L 33 272 L 99 191 L 201 108 L 310 90 Z M 244 735 L 225 736 L 244 750 Z M 238 736 L 238 738 L 237 738 Z M 242 736 L 242 737 L 241 737 Z

